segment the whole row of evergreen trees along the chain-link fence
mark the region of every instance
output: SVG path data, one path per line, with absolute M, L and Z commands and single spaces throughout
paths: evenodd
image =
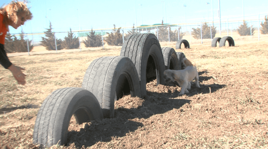
M 162 23 L 163 24 L 163 20 Z M 93 29 L 89 32 L 87 35 L 87 39 L 83 41 L 85 47 L 101 47 L 103 44 L 107 43 L 108 45 L 112 46 L 120 46 L 123 44 L 123 34 L 120 33 L 120 28 L 116 28 L 115 25 L 113 25 L 114 28 L 111 33 L 107 33 L 108 36 L 103 39 L 103 37 L 99 34 L 96 34 Z M 243 24 L 238 26 L 236 29 L 238 34 L 240 36 L 246 36 L 246 35 L 253 35 L 255 28 L 251 26 L 248 26 L 247 22 L 244 20 Z M 50 26 L 45 33 L 45 37 L 41 37 L 41 45 L 44 46 L 47 50 L 61 50 L 63 48 L 65 49 L 77 49 L 80 46 L 79 38 L 74 35 L 71 28 L 68 32 L 68 35 L 64 37 L 64 40 L 55 38 L 55 33 L 52 32 L 52 25 L 50 22 Z M 208 39 L 208 38 L 214 38 L 216 34 L 216 27 L 215 26 L 208 26 L 207 23 L 203 23 L 200 28 L 192 28 L 192 35 L 195 39 L 201 38 L 201 29 L 202 29 L 202 38 Z M 128 30 L 127 33 L 124 36 L 124 40 L 126 40 L 130 35 L 139 33 L 141 29 L 135 29 L 134 24 L 131 30 Z M 150 32 L 147 31 L 147 32 Z M 179 34 L 178 34 L 179 32 Z M 181 32 L 181 27 L 178 27 L 178 30 L 175 29 L 174 31 L 171 30 L 170 26 L 159 26 L 157 29 L 158 40 L 160 42 L 164 41 L 177 41 L 178 39 L 182 39 L 185 35 L 185 32 Z M 265 16 L 265 21 L 261 22 L 261 34 L 268 34 L 268 17 Z M 27 37 L 28 39 L 28 37 Z M 33 44 L 31 43 L 31 40 L 25 39 L 25 35 L 23 33 L 23 30 L 21 31 L 19 38 L 17 38 L 15 35 L 11 35 L 9 32 L 7 32 L 5 37 L 5 50 L 7 53 L 13 53 L 13 52 L 28 52 L 33 49 Z M 104 42 L 103 42 L 104 41 Z M 57 46 L 56 46 L 57 45 Z

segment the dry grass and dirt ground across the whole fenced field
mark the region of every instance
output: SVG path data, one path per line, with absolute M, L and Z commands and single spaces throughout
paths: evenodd
M 189 49 L 176 50 L 196 62 L 200 89 L 180 97 L 176 85 L 148 83 L 146 98 L 123 97 L 115 103 L 113 119 L 81 125 L 71 120 L 67 146 L 50 148 L 268 148 L 268 37 L 233 38 L 235 47 L 213 48 L 210 39 L 203 44 L 192 39 Z M 175 44 L 160 43 L 174 49 Z M 46 52 L 42 48 L 33 53 Z M 38 148 L 32 132 L 45 97 L 58 88 L 81 87 L 94 59 L 117 56 L 120 50 L 9 54 L 27 76 L 26 85 L 18 85 L 0 67 L 0 147 Z

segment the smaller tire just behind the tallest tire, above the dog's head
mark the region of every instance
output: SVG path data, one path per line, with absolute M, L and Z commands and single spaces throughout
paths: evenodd
M 179 61 L 176 51 L 172 47 L 162 47 L 165 69 L 179 70 Z

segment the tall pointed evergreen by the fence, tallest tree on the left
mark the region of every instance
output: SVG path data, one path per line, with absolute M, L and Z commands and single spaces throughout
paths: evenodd
M 50 22 L 49 29 L 46 29 L 47 31 L 44 32 L 45 37 L 47 37 L 47 38 L 41 37 L 42 38 L 41 45 L 44 46 L 47 50 L 56 50 L 55 34 L 52 33 L 52 29 L 53 28 L 52 28 L 52 25 Z M 62 40 L 56 38 L 56 42 L 57 42 L 57 50 L 61 50 L 62 49 L 62 47 L 61 47 Z

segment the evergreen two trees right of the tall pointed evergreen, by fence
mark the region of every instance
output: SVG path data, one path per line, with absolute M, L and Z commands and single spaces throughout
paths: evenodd
M 95 35 L 95 31 L 93 31 L 93 28 L 91 28 L 91 31 L 89 32 L 89 35 L 87 36 L 87 39 L 83 41 L 83 43 L 85 44 L 85 47 L 101 47 L 102 36 L 98 34 Z

